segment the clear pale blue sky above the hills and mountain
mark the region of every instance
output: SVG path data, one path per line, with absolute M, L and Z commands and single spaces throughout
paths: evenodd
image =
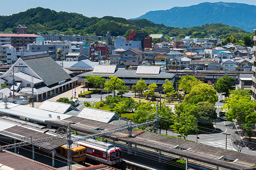
M 219 0 L 256 5 L 256 0 Z M 43 7 L 56 12 L 80 13 L 87 17 L 114 16 L 137 18 L 149 11 L 167 10 L 175 6 L 191 6 L 215 0 L 0 0 L 0 15 L 12 15 L 29 8 Z

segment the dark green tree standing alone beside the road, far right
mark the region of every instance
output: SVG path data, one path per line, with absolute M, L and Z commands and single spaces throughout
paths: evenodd
M 225 97 L 229 96 L 229 90 L 233 89 L 231 82 L 236 81 L 235 78 L 224 75 L 223 78 L 219 78 L 215 84 L 216 91 L 218 93 L 225 93 Z

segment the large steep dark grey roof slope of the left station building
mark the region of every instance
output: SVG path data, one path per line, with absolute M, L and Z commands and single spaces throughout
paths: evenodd
M 44 80 L 47 86 L 71 78 L 48 54 L 31 55 L 20 58 Z

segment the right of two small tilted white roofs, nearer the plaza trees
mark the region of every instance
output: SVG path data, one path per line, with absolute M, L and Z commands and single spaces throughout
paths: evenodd
M 104 123 L 109 123 L 113 118 L 115 120 L 119 119 L 119 116 L 115 114 L 115 112 L 85 107 L 77 117 L 89 119 L 89 120 L 96 120 Z

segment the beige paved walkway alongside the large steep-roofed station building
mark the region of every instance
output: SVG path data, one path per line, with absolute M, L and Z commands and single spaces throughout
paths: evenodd
M 88 89 L 88 88 L 84 88 L 83 85 L 80 85 L 80 86 L 78 86 L 78 87 L 76 87 L 76 88 L 73 88 L 73 90 L 70 89 L 70 90 L 64 91 L 64 92 L 62 92 L 61 94 L 58 94 L 58 95 L 56 95 L 56 96 L 54 96 L 54 97 L 44 99 L 43 101 L 34 102 L 34 107 L 35 107 L 35 108 L 40 107 L 41 104 L 42 104 L 44 101 L 46 101 L 46 100 L 49 100 L 49 101 L 56 101 L 56 100 L 60 99 L 61 97 L 67 97 L 67 98 L 70 100 L 70 98 L 72 97 L 72 91 L 73 91 L 73 97 L 74 97 L 74 92 L 76 92 L 76 96 L 75 96 L 75 97 L 78 97 L 78 94 L 83 93 L 83 92 L 86 92 L 87 89 Z

